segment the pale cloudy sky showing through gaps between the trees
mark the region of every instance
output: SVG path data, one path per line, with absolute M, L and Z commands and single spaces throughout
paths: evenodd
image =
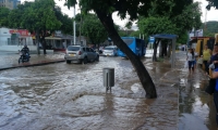
M 24 1 L 34 1 L 34 0 L 21 0 L 21 2 L 24 2 Z M 61 6 L 62 12 L 64 14 L 68 14 L 70 17 L 73 17 L 73 8 L 69 10 L 66 6 L 63 6 L 65 0 L 62 0 L 62 1 L 55 0 L 55 1 L 59 6 Z M 194 1 L 198 1 L 198 2 L 202 3 L 201 4 L 202 12 L 203 12 L 202 22 L 205 22 L 205 20 L 206 20 L 206 22 L 208 22 L 208 21 L 218 21 L 218 10 L 215 10 L 214 8 L 211 8 L 210 11 L 207 11 L 207 16 L 205 17 L 205 14 L 206 14 L 206 9 L 205 8 L 207 5 L 207 1 L 206 0 L 194 0 Z M 75 13 L 78 13 L 78 12 L 80 12 L 80 9 L 78 9 L 78 6 L 76 6 Z M 113 21 L 114 21 L 116 24 L 118 24 L 118 25 L 120 25 L 122 27 L 126 23 L 126 21 L 121 21 L 117 16 L 116 13 L 113 14 Z

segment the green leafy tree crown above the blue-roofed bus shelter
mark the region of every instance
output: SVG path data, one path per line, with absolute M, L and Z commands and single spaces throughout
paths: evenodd
M 158 12 L 159 4 L 153 3 L 154 8 L 149 10 L 149 17 L 141 17 L 137 22 L 140 31 L 147 37 L 155 34 L 175 34 L 179 36 L 179 41 L 185 43 L 186 31 L 193 27 L 198 29 L 202 25 L 199 3 L 195 2 L 185 6 L 178 15 L 170 12 L 177 8 L 173 3 L 166 4 L 162 3 L 161 6 L 168 6 L 170 9 L 168 13 Z

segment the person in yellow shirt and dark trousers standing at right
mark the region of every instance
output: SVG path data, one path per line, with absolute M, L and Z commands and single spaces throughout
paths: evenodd
M 210 56 L 211 56 L 211 50 L 208 49 L 207 46 L 205 46 L 203 50 L 203 64 L 205 66 L 205 72 L 207 73 L 207 75 L 209 74 L 208 62 L 210 60 Z

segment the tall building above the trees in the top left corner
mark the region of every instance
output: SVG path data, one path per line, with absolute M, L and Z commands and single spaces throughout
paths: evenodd
M 0 0 L 0 8 L 4 6 L 10 10 L 16 9 L 21 4 L 21 0 Z

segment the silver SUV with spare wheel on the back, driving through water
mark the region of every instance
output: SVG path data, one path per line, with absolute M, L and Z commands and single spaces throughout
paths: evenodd
M 73 63 L 88 63 L 99 61 L 99 54 L 96 53 L 92 48 L 83 46 L 69 46 L 64 55 L 65 62 Z

